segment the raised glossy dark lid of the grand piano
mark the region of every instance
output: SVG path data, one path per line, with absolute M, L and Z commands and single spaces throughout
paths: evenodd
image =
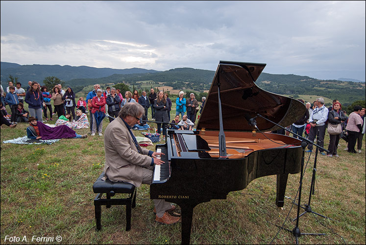
M 266 64 L 220 61 L 214 80 L 206 98 L 197 129 L 219 130 L 218 82 L 223 129 L 230 131 L 252 131 L 246 118 L 257 114 L 283 127 L 296 122 L 305 114 L 305 105 L 297 99 L 272 94 L 260 89 L 255 81 Z M 280 127 L 257 117 L 261 131 L 272 131 Z

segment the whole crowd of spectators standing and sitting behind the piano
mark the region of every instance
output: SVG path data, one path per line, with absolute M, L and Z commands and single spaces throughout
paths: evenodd
M 13 82 L 8 83 L 5 91 L 1 86 L 1 125 L 5 124 L 12 128 L 17 123 L 30 123 L 29 118 L 43 123 L 53 121 L 54 115 L 57 118 L 55 124 L 48 124 L 51 127 L 67 125 L 71 129 L 89 128 L 90 134 L 94 136 L 97 132 L 102 136 L 103 119 L 108 117 L 112 122 L 118 117 L 123 105 L 126 103 L 139 103 L 145 110 L 141 122 L 134 126 L 134 129 L 148 128 L 148 109 L 151 109 L 151 120 L 157 124 L 157 133 L 166 135 L 166 130 L 194 130 L 197 114 L 202 113 L 205 104 L 205 97 L 202 97 L 201 105 L 195 99 L 195 94 L 191 93 L 189 98 L 184 98 L 184 92 L 180 91 L 175 99 L 175 118 L 171 121 L 172 101 L 168 93 L 158 91 L 155 93 L 151 88 L 147 95 L 142 91 L 139 95 L 138 90 L 125 92 L 123 98 L 121 90 L 114 87 L 106 87 L 101 90 L 99 84 L 94 85 L 86 98 L 78 97 L 71 87 L 66 91 L 62 89 L 61 84 L 54 86 L 48 91 L 47 86 L 40 86 L 38 82 L 29 81 L 26 90 L 22 88 L 20 82 L 14 86 Z M 52 100 L 52 103 L 51 103 Z M 299 99 L 302 103 L 304 100 Z M 24 109 L 24 102 L 28 109 Z M 53 110 L 52 110 L 53 104 Z M 5 106 L 8 106 L 8 111 Z M 304 136 L 311 141 L 315 141 L 318 146 L 324 147 L 325 133 L 329 134 L 328 153 L 319 149 L 321 155 L 328 157 L 339 157 L 338 146 L 342 138 L 347 140 L 347 150 L 350 153 L 360 153 L 362 150 L 362 141 L 366 131 L 365 108 L 357 105 L 354 111 L 347 116 L 342 110 L 342 104 L 339 100 L 333 100 L 328 108 L 324 105 L 323 98 L 317 98 L 313 102 L 306 102 L 306 111 L 302 118 L 294 122 L 287 128 L 296 135 Z M 76 112 L 75 112 L 76 110 Z M 88 116 L 86 115 L 89 113 Z M 198 116 L 199 118 L 199 116 Z M 285 130 L 276 131 L 276 133 L 285 134 Z M 296 135 L 295 135 L 296 134 Z M 308 144 L 307 152 L 314 150 L 313 144 Z

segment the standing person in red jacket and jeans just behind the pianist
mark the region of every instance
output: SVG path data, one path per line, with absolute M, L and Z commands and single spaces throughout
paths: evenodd
M 92 99 L 93 129 L 92 136 L 96 135 L 98 129 L 99 136 L 103 136 L 103 119 L 105 118 L 105 97 L 102 97 L 102 90 L 97 90 L 97 96 Z

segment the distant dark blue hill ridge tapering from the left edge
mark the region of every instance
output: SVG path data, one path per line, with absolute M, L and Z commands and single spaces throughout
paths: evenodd
M 63 81 L 69 81 L 76 78 L 98 78 L 112 74 L 134 74 L 134 73 L 158 73 L 155 70 L 146 70 L 141 68 L 131 69 L 112 69 L 95 68 L 88 66 L 60 66 L 60 65 L 19 65 L 16 63 L 1 62 L 0 66 L 1 83 L 7 81 L 8 76 L 18 77 L 22 84 L 28 81 L 43 82 L 47 76 L 56 76 Z

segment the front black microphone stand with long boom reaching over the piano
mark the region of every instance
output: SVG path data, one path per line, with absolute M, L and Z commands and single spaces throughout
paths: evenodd
M 277 124 L 277 123 L 274 123 L 274 122 L 272 122 L 272 121 L 270 121 L 268 118 L 265 118 L 265 117 L 263 117 L 262 115 L 260 115 L 260 114 L 257 114 L 257 116 L 258 117 L 261 117 L 261 118 L 263 118 L 263 119 L 265 119 L 266 121 L 268 121 L 268 122 L 270 122 L 270 123 L 273 123 L 273 124 L 275 124 L 275 125 L 277 125 L 277 126 L 279 126 L 280 128 L 283 128 L 283 129 L 285 129 L 286 131 L 288 131 L 288 132 L 290 132 L 290 133 L 293 133 L 291 130 L 288 130 L 287 128 L 285 128 L 285 127 L 283 127 L 283 126 L 281 126 L 281 125 L 279 125 L 279 124 Z M 249 121 L 248 121 L 249 122 Z M 249 125 L 252 125 L 252 126 L 255 126 L 255 128 L 257 128 L 258 129 L 258 127 L 257 127 L 257 125 L 256 125 L 257 123 L 255 122 L 255 120 L 254 119 L 251 119 L 250 120 L 250 122 L 249 122 Z M 258 129 L 259 130 L 259 129 Z M 305 163 L 305 148 L 306 148 L 306 146 L 308 145 L 308 144 L 313 144 L 314 146 L 316 146 L 317 148 L 321 148 L 321 149 L 323 149 L 324 151 L 326 151 L 326 152 L 329 152 L 328 150 L 326 150 L 326 149 L 324 149 L 323 147 L 320 147 L 320 146 L 318 146 L 318 145 L 316 145 L 316 144 L 314 144 L 314 142 L 313 141 L 311 141 L 311 140 L 308 140 L 308 139 L 306 139 L 306 138 L 304 138 L 304 137 L 302 137 L 302 136 L 300 136 L 300 135 L 298 135 L 298 134 L 295 134 L 295 133 L 293 133 L 293 135 L 296 135 L 297 137 L 299 137 L 299 139 L 301 139 L 302 140 L 302 142 L 301 142 L 301 147 L 302 147 L 302 157 L 301 157 L 301 172 L 300 172 L 300 185 L 299 185 L 299 198 L 298 198 L 298 203 L 296 204 L 297 205 L 297 216 L 296 216 L 296 225 L 295 225 L 295 227 L 293 228 L 293 230 L 291 231 L 291 230 L 289 230 L 289 229 L 286 229 L 286 228 L 284 228 L 284 227 L 281 227 L 282 229 L 285 229 L 285 230 L 287 230 L 287 231 L 289 231 L 289 232 L 291 232 L 292 234 L 293 234 L 293 236 L 295 237 L 295 239 L 296 239 L 296 244 L 298 244 L 298 238 L 301 236 L 301 235 L 315 235 L 315 236 L 321 236 L 321 235 L 326 235 L 325 233 L 301 233 L 300 232 L 300 228 L 299 228 L 299 218 L 300 218 L 300 215 L 299 215 L 299 213 L 300 213 L 300 202 L 301 202 L 301 190 L 302 190 L 302 179 L 303 179 L 303 171 L 304 171 L 304 163 Z M 317 142 L 318 143 L 318 142 Z M 310 206 L 309 206 L 310 207 Z

